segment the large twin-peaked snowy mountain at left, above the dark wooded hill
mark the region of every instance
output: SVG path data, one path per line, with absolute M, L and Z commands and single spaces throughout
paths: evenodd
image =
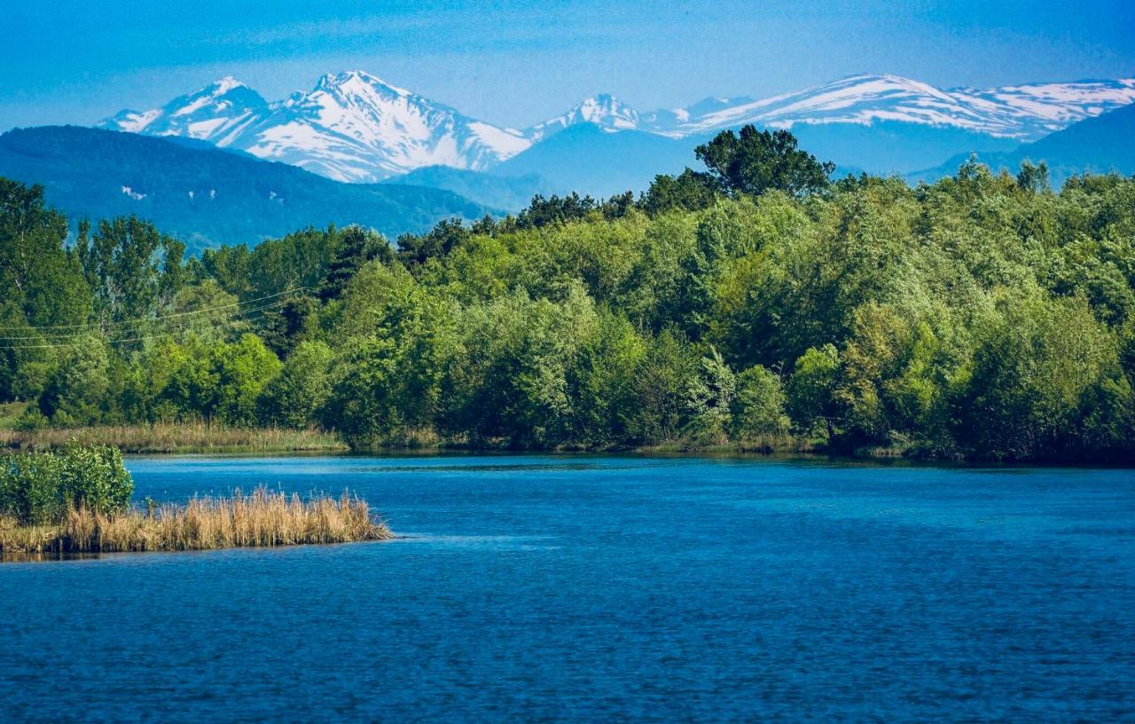
M 518 131 L 469 118 L 361 70 L 325 75 L 310 92 L 275 103 L 225 78 L 100 126 L 201 138 L 347 182 L 377 182 L 424 166 L 484 169 L 531 144 Z

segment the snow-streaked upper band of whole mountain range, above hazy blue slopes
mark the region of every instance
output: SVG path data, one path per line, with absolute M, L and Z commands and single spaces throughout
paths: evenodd
M 891 74 L 857 74 L 764 99 L 709 96 L 649 112 L 600 93 L 520 132 L 470 118 L 363 70 L 344 70 L 272 103 L 226 76 L 161 108 L 120 111 L 100 126 L 201 138 L 338 180 L 376 182 L 424 166 L 490 168 L 578 124 L 684 137 L 745 124 L 791 128 L 890 121 L 1033 141 L 1132 102 L 1135 78 L 941 89 Z

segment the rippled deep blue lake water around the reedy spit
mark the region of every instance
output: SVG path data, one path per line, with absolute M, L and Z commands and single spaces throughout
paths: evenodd
M 1135 472 L 153 457 L 389 542 L 0 565 L 0 721 L 1135 721 Z

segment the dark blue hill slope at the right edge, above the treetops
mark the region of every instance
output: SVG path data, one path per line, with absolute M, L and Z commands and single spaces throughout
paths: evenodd
M 913 182 L 933 182 L 951 176 L 968 158 L 968 154 L 955 155 L 945 163 L 911 174 L 909 178 Z M 1011 172 L 1016 172 L 1026 159 L 1048 163 L 1053 186 L 1060 186 L 1069 176 L 1084 171 L 1135 174 L 1135 106 L 1086 118 L 1009 152 L 977 154 L 977 160 L 990 168 L 1004 168 Z

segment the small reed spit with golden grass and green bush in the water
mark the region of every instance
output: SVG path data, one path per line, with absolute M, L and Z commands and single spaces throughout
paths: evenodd
M 184 505 L 131 504 L 134 483 L 114 447 L 0 457 L 0 556 L 204 550 L 385 540 L 365 500 L 258 488 Z

